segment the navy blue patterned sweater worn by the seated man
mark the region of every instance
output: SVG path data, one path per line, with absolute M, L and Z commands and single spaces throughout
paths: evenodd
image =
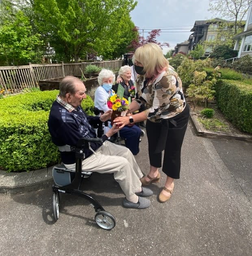
M 100 117 L 89 116 L 79 106 L 72 112 L 69 112 L 57 101 L 54 101 L 49 114 L 48 129 L 52 136 L 52 142 L 56 146 L 76 146 L 80 138 L 96 138 L 96 132 L 91 125 L 100 123 Z M 106 135 L 102 136 L 105 141 L 108 139 Z M 91 148 L 95 151 L 102 144 L 91 142 Z M 85 157 L 92 154 L 92 151 L 87 149 Z M 75 163 L 74 152 L 61 152 L 61 160 L 64 164 Z

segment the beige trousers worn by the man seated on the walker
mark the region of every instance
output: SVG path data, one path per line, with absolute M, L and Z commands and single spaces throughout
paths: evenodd
M 75 171 L 75 164 L 64 164 Z M 82 162 L 84 171 L 114 173 L 115 180 L 121 186 L 126 197 L 141 191 L 140 178 L 143 174 L 129 149 L 109 141 Z

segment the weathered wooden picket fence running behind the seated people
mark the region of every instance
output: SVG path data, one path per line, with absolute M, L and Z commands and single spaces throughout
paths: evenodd
M 94 61 L 60 64 L 30 64 L 27 66 L 0 67 L 0 96 L 22 92 L 24 88 L 36 88 L 40 80 L 54 79 L 69 75 L 81 76 L 89 64 L 101 68 L 118 69 L 123 60 Z

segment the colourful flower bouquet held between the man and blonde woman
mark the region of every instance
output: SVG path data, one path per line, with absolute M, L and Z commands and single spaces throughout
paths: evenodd
M 111 114 L 111 125 L 117 116 L 125 116 L 128 109 L 128 100 L 126 98 L 119 98 L 117 94 L 108 98 L 107 105 L 110 109 L 113 109 Z

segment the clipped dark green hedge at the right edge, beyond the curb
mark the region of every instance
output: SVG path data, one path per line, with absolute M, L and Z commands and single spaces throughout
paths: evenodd
M 252 133 L 252 85 L 220 79 L 215 90 L 224 116 L 241 131 Z

